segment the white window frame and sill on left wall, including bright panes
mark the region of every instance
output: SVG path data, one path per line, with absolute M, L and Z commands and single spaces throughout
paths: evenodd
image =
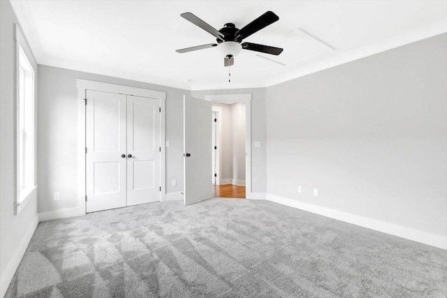
M 36 59 L 15 24 L 15 215 L 37 197 Z M 23 84 L 21 84 L 21 82 Z M 22 87 L 22 89 L 21 89 Z M 31 97 L 31 98 L 29 98 Z M 22 108 L 22 109 L 21 109 Z M 22 144 L 22 146 L 20 146 Z M 24 169 L 22 166 L 24 163 Z

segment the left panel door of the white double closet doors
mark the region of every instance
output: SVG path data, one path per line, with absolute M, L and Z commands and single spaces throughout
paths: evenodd
M 126 95 L 87 90 L 86 121 L 86 211 L 124 207 Z

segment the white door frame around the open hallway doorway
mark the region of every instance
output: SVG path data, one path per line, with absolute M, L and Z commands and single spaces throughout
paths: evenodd
M 205 100 L 218 103 L 245 104 L 245 197 L 251 199 L 251 93 L 205 95 Z

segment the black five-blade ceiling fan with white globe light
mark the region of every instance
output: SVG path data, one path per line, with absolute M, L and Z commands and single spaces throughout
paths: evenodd
M 237 29 L 235 24 L 226 23 L 220 30 L 214 29 L 210 24 L 207 24 L 200 18 L 196 17 L 192 13 L 182 13 L 180 15 L 185 20 L 195 24 L 196 26 L 207 31 L 209 34 L 217 38 L 217 43 L 208 43 L 206 45 L 197 45 L 191 48 L 184 48 L 176 50 L 175 52 L 184 53 L 191 52 L 194 50 L 202 50 L 206 48 L 217 47 L 221 50 L 223 54 L 223 65 L 231 66 L 234 64 L 234 57 L 240 53 L 242 49 L 244 50 L 254 50 L 256 52 L 265 52 L 271 55 L 279 55 L 283 51 L 281 48 L 275 48 L 270 45 L 260 45 L 258 43 L 242 43 L 244 38 L 249 37 L 251 34 L 267 27 L 268 25 L 279 20 L 279 17 L 275 15 L 272 11 L 268 11 L 258 17 L 253 22 L 247 24 L 247 26 L 242 29 Z

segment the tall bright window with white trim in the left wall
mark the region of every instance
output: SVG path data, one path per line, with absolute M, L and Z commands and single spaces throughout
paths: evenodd
M 19 30 L 17 30 L 19 31 Z M 17 32 L 16 31 L 16 32 Z M 34 177 L 34 69 L 17 32 L 17 212 L 36 196 Z

